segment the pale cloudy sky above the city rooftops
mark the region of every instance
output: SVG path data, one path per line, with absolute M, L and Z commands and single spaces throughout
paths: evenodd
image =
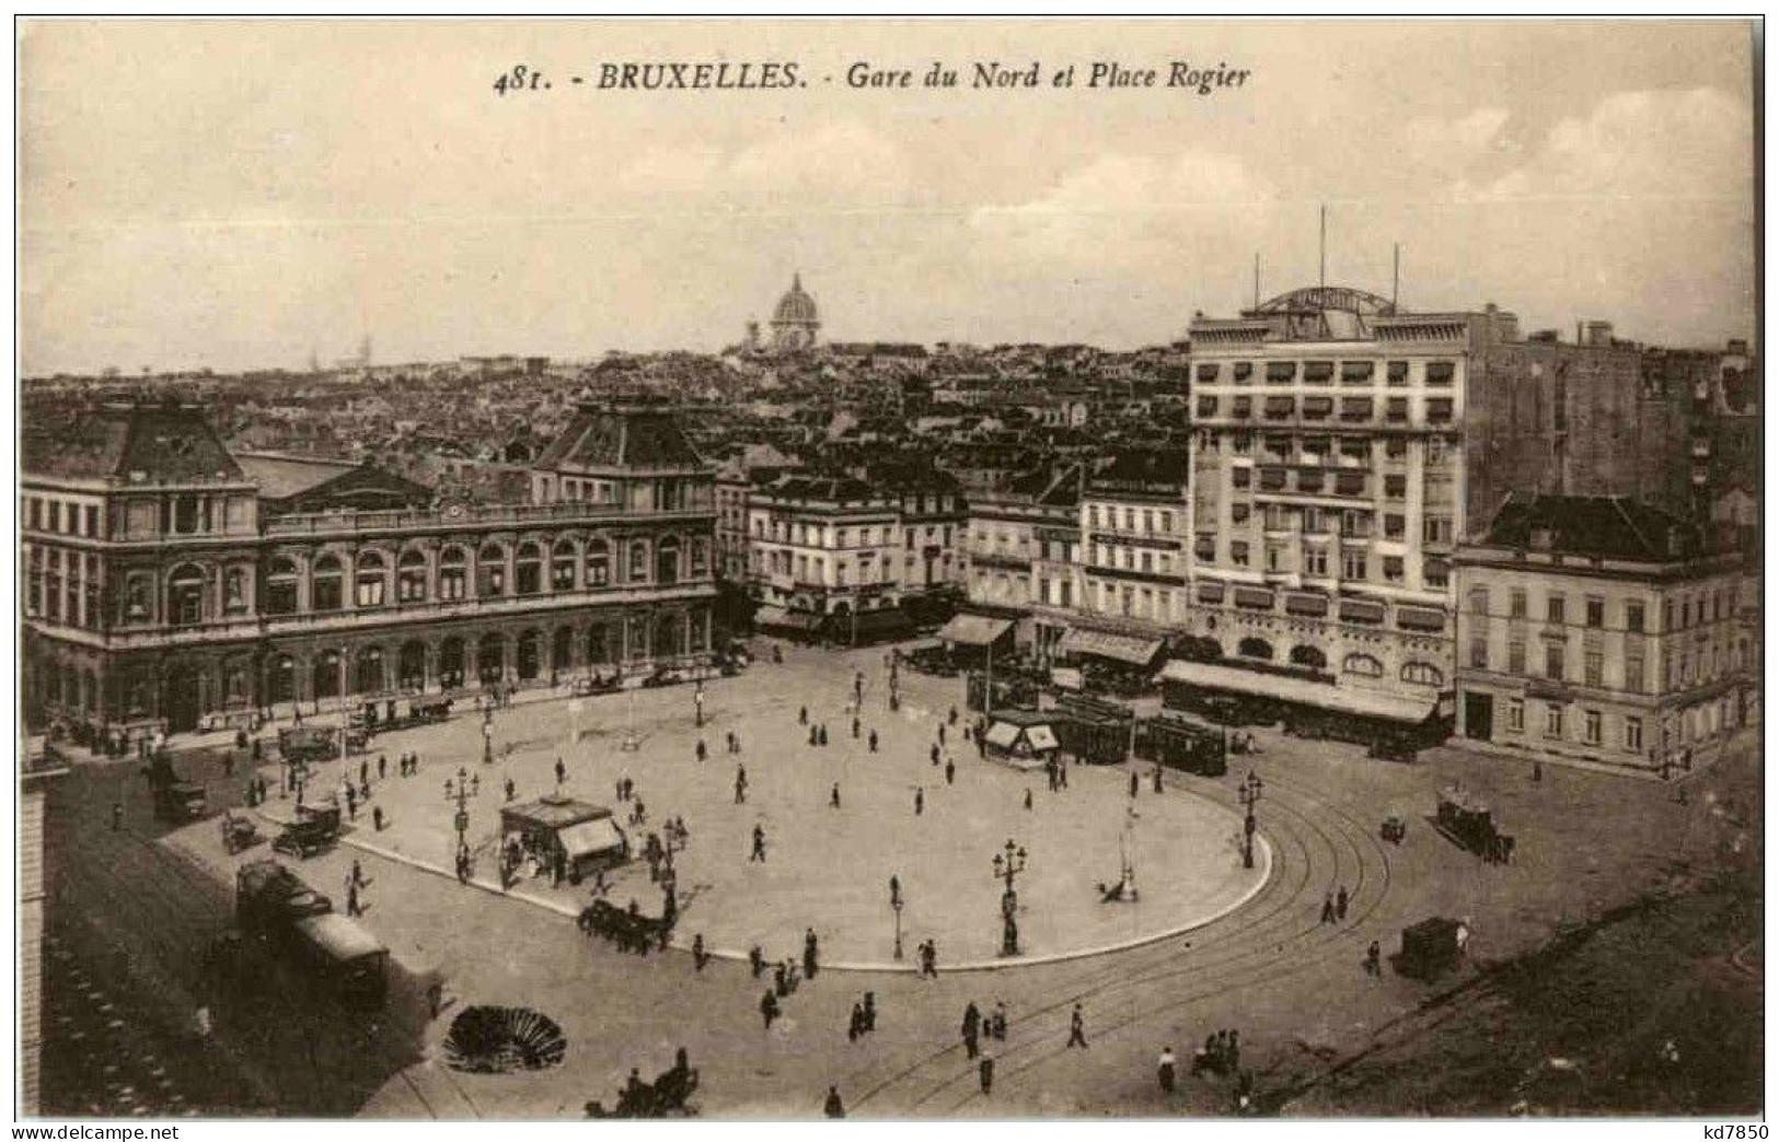
M 1388 294 L 1400 242 L 1409 308 L 1713 345 L 1754 329 L 1749 57 L 1738 23 L 36 23 L 21 366 L 719 349 L 793 270 L 836 340 L 1133 347 L 1247 304 L 1256 253 L 1313 285 L 1322 203 L 1331 283 Z M 591 85 L 621 60 L 806 85 Z M 496 96 L 514 62 L 551 89 Z

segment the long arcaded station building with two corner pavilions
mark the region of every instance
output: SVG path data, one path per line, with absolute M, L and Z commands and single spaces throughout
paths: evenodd
M 233 457 L 192 407 L 27 438 L 25 708 L 183 731 L 342 696 L 651 669 L 710 647 L 712 470 L 671 416 L 582 409 L 532 503 Z

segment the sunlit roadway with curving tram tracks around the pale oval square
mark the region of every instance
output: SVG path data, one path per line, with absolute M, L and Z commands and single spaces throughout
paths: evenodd
M 881 663 L 881 651 L 793 651 L 781 667 L 788 699 L 781 697 L 777 710 L 742 717 L 781 722 L 785 706 L 793 712 L 802 694 L 845 688 L 856 662 Z M 904 678 L 911 704 L 948 704 L 945 687 L 957 687 L 955 680 Z M 930 699 L 923 692 L 929 683 Z M 687 703 L 690 696 L 680 688 L 660 701 Z M 720 703 L 717 687 L 708 701 L 712 710 Z M 838 720 L 829 717 L 831 735 Z M 473 735 L 471 719 L 454 728 L 464 724 Z M 745 744 L 749 722 L 742 724 Z M 1265 1090 L 1268 1078 L 1316 1071 L 1363 1050 L 1377 1028 L 1430 994 L 1427 984 L 1388 969 L 1382 978 L 1361 971 L 1370 941 L 1389 953 L 1407 923 L 1462 916 L 1475 932 L 1471 961 L 1503 959 L 1558 925 L 1686 877 L 1713 852 L 1758 843 L 1752 749 L 1697 779 L 1681 804 L 1670 788 L 1605 774 L 1546 768 L 1542 781 L 1532 783 L 1526 767 L 1461 751 L 1430 751 L 1416 765 L 1395 765 L 1368 760 L 1357 747 L 1270 731 L 1258 736 L 1263 752 L 1252 767 L 1265 781 L 1260 820 L 1274 865 L 1240 909 L 1178 937 L 1082 961 L 941 969 L 936 980 L 820 973 L 785 1001 L 785 1016 L 770 1030 L 758 1010 L 765 980 L 749 978 L 745 964 L 715 961 L 694 971 L 690 957 L 678 952 L 623 955 L 534 904 L 464 889 L 342 845 L 302 863 L 302 875 L 333 884 L 350 859 L 361 859 L 374 879 L 366 923 L 404 962 L 439 968 L 454 1005 L 534 1007 L 557 1019 L 569 1039 L 560 1067 L 523 1076 L 455 1074 L 427 1055 L 384 1071 L 358 1112 L 576 1117 L 589 1099 L 610 1105 L 632 1067 L 649 1076 L 685 1046 L 701 1069 L 694 1101 L 706 1117 L 815 1117 L 829 1083 L 840 1087 L 854 1117 L 1222 1114 L 1231 1105 L 1226 1080 L 1183 1078 L 1172 1096 L 1162 1096 L 1155 1058 L 1163 1046 L 1185 1062 L 1213 1030 L 1238 1028 L 1242 1064 Z M 720 742 L 720 728 L 713 740 Z M 720 760 L 719 751 L 710 765 Z M 429 777 L 438 768 L 429 761 Z M 1245 772 L 1247 765 L 1222 779 L 1171 774 L 1169 793 L 1185 790 L 1233 804 Z M 1517 836 L 1514 865 L 1482 865 L 1432 831 L 1434 795 L 1452 781 L 1487 799 Z M 1409 818 L 1400 847 L 1377 836 L 1389 811 Z M 1165 875 L 1147 872 L 1144 882 Z M 1348 914 L 1324 925 L 1324 897 L 1340 886 L 1350 893 Z M 799 934 L 801 927 L 788 930 L 774 952 L 793 952 Z M 865 991 L 875 993 L 877 1030 L 849 1041 L 847 1014 Z M 982 1009 L 1002 1001 L 1009 1014 L 1007 1041 L 993 1044 L 998 1066 L 989 1096 L 982 1096 L 975 1064 L 959 1044 L 968 1001 Z M 1066 1046 L 1076 1003 L 1085 1050 Z M 448 1012 L 423 1050 L 436 1048 L 447 1025 Z M 379 1074 L 375 1067 L 368 1073 Z

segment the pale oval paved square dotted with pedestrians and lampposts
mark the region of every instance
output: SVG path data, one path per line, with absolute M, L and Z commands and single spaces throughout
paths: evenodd
M 863 703 L 854 738 L 857 674 Z M 692 685 L 505 706 L 491 720 L 491 763 L 482 760 L 482 719 L 461 710 L 468 717 L 379 735 L 370 754 L 347 760 L 354 783 L 359 765 L 375 776 L 377 758 L 388 760 L 388 777 L 374 781 L 370 808 L 358 809 L 347 843 L 450 877 L 457 799 L 447 797 L 445 783 L 455 784 L 461 770 L 473 790 L 464 799 L 473 879 L 498 888 L 502 806 L 564 793 L 608 806 L 630 834 L 637 857 L 607 879 L 607 898 L 637 900 L 658 914 L 662 888 L 651 882 L 640 850 L 646 834 L 680 818 L 690 836 L 674 854 L 678 946 L 701 934 L 715 955 L 740 959 L 760 946 L 777 959 L 799 953 L 804 930 L 813 929 L 829 966 L 897 966 L 891 877 L 904 900 L 902 966 L 913 969 L 913 948 L 927 939 L 946 968 L 1005 962 L 1005 884 L 993 857 L 1009 840 L 1026 852 L 1016 877 L 1025 959 L 1188 930 L 1263 884 L 1267 847 L 1260 845 L 1254 868 L 1244 868 L 1242 818 L 1231 806 L 1187 792 L 1156 795 L 1147 774 L 1131 797 L 1130 774 L 1078 765 L 1069 767 L 1067 788 L 1051 792 L 1044 770 L 986 760 L 964 738 L 973 719 L 962 712 L 962 680 L 904 669 L 898 685 L 898 710 L 890 710 L 882 651 L 792 649 L 785 663 L 769 658 L 735 678 L 706 681 L 703 728 Z M 811 729 L 824 728 L 827 745 L 809 745 Z M 729 752 L 729 735 L 740 752 Z M 398 777 L 397 758 L 409 751 L 422 756 L 422 770 Z M 617 799 L 623 779 L 635 783 L 630 800 Z M 327 797 L 338 784 L 340 763 L 322 765 L 306 797 Z M 639 804 L 644 822 L 633 824 Z M 274 799 L 267 815 L 292 808 Z M 372 827 L 374 808 L 386 818 L 381 832 Z M 756 827 L 763 859 L 753 859 Z M 1121 852 L 1135 870 L 1139 897 L 1105 902 L 1099 886 L 1119 881 Z M 550 875 L 523 879 L 511 891 L 569 914 L 591 900 L 589 886 L 551 886 Z

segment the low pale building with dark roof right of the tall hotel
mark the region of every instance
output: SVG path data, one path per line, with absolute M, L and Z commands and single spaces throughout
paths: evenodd
M 1758 717 L 1754 576 L 1658 509 L 1514 495 L 1457 555 L 1459 728 L 1679 776 Z

